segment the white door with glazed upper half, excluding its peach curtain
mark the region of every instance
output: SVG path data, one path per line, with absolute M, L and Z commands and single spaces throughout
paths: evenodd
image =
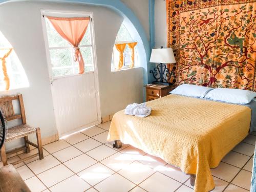
M 72 58 L 72 48 L 55 31 L 47 16 L 81 17 L 90 13 L 42 12 L 42 25 L 51 78 L 56 125 L 60 136 L 101 122 L 98 94 L 98 75 L 94 47 L 92 19 L 80 50 L 84 59 L 85 72 L 78 74 L 78 65 Z

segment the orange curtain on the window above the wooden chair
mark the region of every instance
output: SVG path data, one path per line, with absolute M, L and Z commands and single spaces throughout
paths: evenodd
M 12 48 L 0 49 L 0 59 L 2 60 L 2 69 L 3 69 L 4 81 L 5 81 L 5 90 L 9 90 L 9 88 L 10 88 L 10 78 L 7 73 L 5 59 L 11 54 L 11 52 L 12 52 Z

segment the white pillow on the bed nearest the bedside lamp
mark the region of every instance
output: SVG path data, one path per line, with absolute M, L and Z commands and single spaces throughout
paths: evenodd
M 185 95 L 190 97 L 203 98 L 210 90 L 214 88 L 208 88 L 203 86 L 195 86 L 194 84 L 182 84 L 176 89 L 171 91 L 172 94 Z

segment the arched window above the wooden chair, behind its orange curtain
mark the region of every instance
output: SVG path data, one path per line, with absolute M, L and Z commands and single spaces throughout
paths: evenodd
M 3 57 L 12 46 L 0 32 L 0 57 Z M 23 69 L 22 63 L 19 61 L 15 51 L 12 49 L 10 55 L 6 57 L 7 74 L 10 79 L 9 90 L 28 87 L 28 78 Z M 4 81 L 4 73 L 2 69 L 2 59 L 0 59 L 0 91 L 6 90 L 6 82 Z

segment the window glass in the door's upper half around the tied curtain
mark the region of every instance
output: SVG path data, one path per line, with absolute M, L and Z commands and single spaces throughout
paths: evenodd
M 90 15 L 75 15 L 74 17 L 88 16 Z M 56 17 L 65 17 L 65 15 L 62 14 Z M 51 76 L 53 78 L 58 78 L 78 74 L 78 63 L 73 59 L 74 54 L 72 46 L 58 34 L 49 19 L 47 17 L 44 18 L 46 22 L 46 33 L 50 53 Z M 92 26 L 90 22 L 87 31 L 79 44 L 84 61 L 84 72 L 94 71 L 91 28 Z

